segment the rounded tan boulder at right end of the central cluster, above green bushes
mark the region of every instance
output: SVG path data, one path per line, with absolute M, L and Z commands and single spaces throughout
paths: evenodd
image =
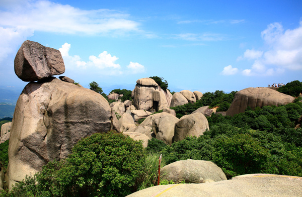
M 205 116 L 201 113 L 185 115 L 175 124 L 173 142 L 185 139 L 187 136 L 199 137 L 209 128 Z

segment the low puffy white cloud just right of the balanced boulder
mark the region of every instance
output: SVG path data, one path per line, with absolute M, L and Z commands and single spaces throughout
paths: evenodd
M 107 51 L 103 51 L 98 56 L 89 56 L 89 61 L 83 61 L 78 55 L 69 55 L 71 45 L 65 43 L 59 48 L 64 60 L 65 67 L 70 70 L 81 70 L 85 72 L 97 72 L 101 75 L 121 75 L 121 74 L 138 74 L 145 72 L 145 67 L 137 62 L 130 62 L 128 66 L 123 68 L 116 63 L 119 59 L 115 55 L 111 55 Z M 95 73 L 96 74 L 96 73 Z

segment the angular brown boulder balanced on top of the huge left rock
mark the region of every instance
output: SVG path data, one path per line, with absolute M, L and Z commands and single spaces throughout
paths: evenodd
M 65 72 L 59 50 L 25 41 L 15 57 L 15 73 L 23 81 L 37 81 Z

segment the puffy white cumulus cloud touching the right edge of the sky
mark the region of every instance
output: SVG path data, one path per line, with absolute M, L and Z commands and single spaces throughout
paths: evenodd
M 284 31 L 280 23 L 272 23 L 261 32 L 265 51 L 248 49 L 238 60 L 253 60 L 242 74 L 274 75 L 285 70 L 302 70 L 302 21 L 295 29 Z

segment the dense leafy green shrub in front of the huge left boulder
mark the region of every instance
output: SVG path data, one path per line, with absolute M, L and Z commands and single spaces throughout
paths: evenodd
M 129 136 L 97 133 L 0 196 L 125 196 L 137 190 L 145 156 L 141 142 Z

